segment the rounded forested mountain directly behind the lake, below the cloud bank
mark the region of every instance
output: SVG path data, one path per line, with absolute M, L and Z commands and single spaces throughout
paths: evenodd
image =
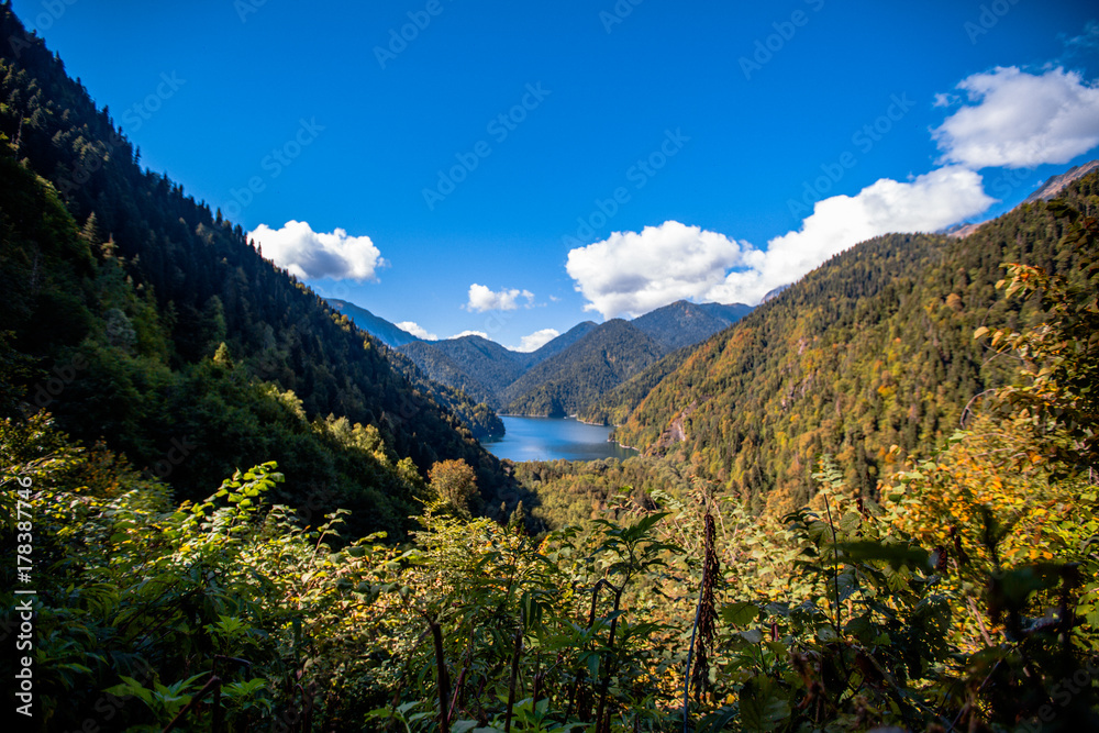
M 503 392 L 506 412 L 576 414 L 666 353 L 665 346 L 632 323 L 621 319 L 607 321 L 508 387 Z

